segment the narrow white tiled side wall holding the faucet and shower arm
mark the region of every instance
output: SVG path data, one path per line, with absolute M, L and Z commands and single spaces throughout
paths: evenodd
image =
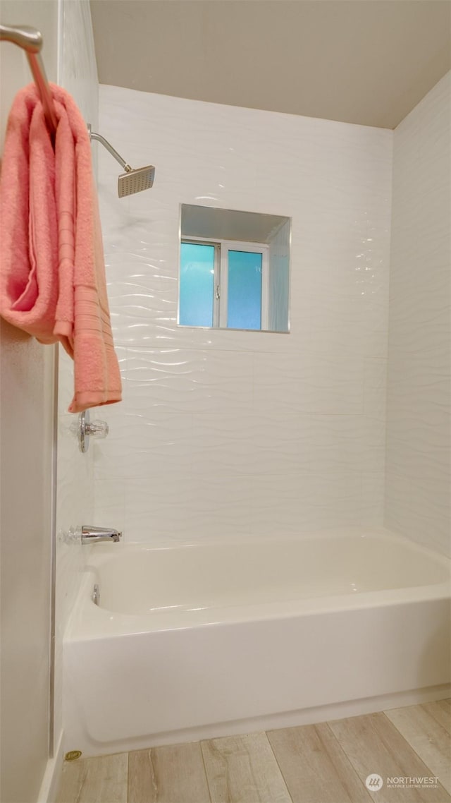
M 59 84 L 71 92 L 93 129 L 98 121 L 99 84 L 88 0 L 63 0 L 59 20 Z M 56 515 L 55 739 L 62 727 L 62 648 L 67 619 L 83 569 L 80 544 L 67 544 L 64 533 L 89 524 L 94 515 L 94 459 L 81 454 L 71 433 L 77 416 L 67 413 L 74 393 L 73 362 L 59 348 L 58 492 Z

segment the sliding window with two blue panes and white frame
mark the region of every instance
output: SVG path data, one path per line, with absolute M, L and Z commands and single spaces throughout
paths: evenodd
M 182 326 L 268 328 L 268 247 L 182 239 Z

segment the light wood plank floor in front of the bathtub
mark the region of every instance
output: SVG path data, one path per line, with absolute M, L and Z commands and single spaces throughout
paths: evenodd
M 66 762 L 56 803 L 451 803 L 450 703 Z

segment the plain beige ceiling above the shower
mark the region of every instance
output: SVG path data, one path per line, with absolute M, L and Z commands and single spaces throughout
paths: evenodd
M 91 0 L 102 84 L 395 128 L 451 67 L 449 0 Z

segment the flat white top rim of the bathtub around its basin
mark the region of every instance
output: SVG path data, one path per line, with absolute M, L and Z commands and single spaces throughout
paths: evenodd
M 449 573 L 451 561 L 440 553 L 433 552 L 430 548 L 393 533 L 385 528 L 341 528 L 333 531 L 324 530 L 319 533 L 301 533 L 299 536 L 283 536 L 281 541 L 310 540 L 320 537 L 327 538 L 360 536 L 362 538 L 382 538 L 391 541 L 398 540 L 401 544 L 408 545 L 408 548 L 416 554 L 428 556 L 429 559 L 436 560 L 437 563 L 445 567 Z M 276 541 L 272 538 L 265 538 L 266 542 Z M 255 544 L 258 547 L 262 539 L 256 536 L 246 538 L 246 544 Z M 449 599 L 451 597 L 451 584 L 449 581 L 436 583 L 433 585 L 418 585 L 400 587 L 395 589 L 380 589 L 372 591 L 361 591 L 356 593 L 335 594 L 323 597 L 305 597 L 292 601 L 269 601 L 250 603 L 248 605 L 221 605 L 221 607 L 205 607 L 196 609 L 185 609 L 180 606 L 175 610 L 158 609 L 146 613 L 122 613 L 114 612 L 91 601 L 91 593 L 95 583 L 96 570 L 106 561 L 120 558 L 120 552 L 142 552 L 154 549 L 170 550 L 173 548 L 189 548 L 197 545 L 212 547 L 217 544 L 240 545 L 242 538 L 234 537 L 227 539 L 215 539 L 206 541 L 205 538 L 192 539 L 187 543 L 185 540 L 173 539 L 170 544 L 167 540 L 155 540 L 147 543 L 135 542 L 129 544 L 97 544 L 87 548 L 88 562 L 83 573 L 79 588 L 77 601 L 67 625 L 65 641 L 84 641 L 85 639 L 111 638 L 112 636 L 124 636 L 132 634 L 144 634 L 161 630 L 185 630 L 198 626 L 226 626 L 230 623 L 240 622 L 264 622 L 278 618 L 292 618 L 298 616 L 311 616 L 330 611 L 355 610 L 370 607 L 385 607 L 388 605 L 400 605 L 415 603 L 420 601 L 433 601 L 439 599 Z

